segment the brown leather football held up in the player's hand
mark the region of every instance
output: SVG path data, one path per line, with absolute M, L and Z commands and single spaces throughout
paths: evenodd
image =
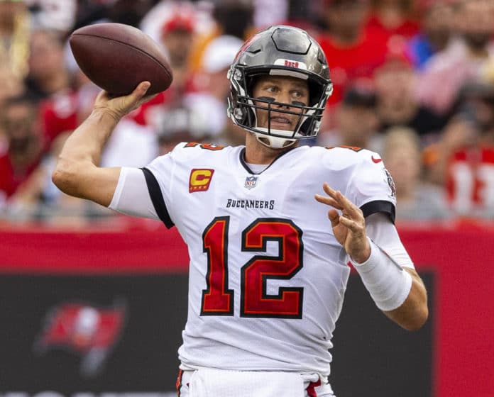
M 69 44 L 82 72 L 112 95 L 130 94 L 143 81 L 151 83 L 148 94 L 165 91 L 172 84 L 172 69 L 163 50 L 133 26 L 84 26 L 70 35 Z

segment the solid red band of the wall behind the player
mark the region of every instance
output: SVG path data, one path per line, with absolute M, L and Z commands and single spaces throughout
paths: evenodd
M 400 225 L 419 271 L 433 271 L 433 395 L 494 394 L 494 227 Z M 175 229 L 0 230 L 3 274 L 156 274 L 187 272 Z M 410 374 L 413 376 L 413 374 Z

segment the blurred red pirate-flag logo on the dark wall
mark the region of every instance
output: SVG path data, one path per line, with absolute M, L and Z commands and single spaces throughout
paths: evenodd
M 62 303 L 47 313 L 34 350 L 38 354 L 60 349 L 75 352 L 82 357 L 81 375 L 92 378 L 104 368 L 109 352 L 119 340 L 125 317 L 123 303 L 109 308 Z

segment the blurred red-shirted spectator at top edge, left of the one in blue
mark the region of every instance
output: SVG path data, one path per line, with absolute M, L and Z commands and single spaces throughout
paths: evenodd
M 388 38 L 410 39 L 419 33 L 414 0 L 371 0 L 371 16 L 366 28 Z

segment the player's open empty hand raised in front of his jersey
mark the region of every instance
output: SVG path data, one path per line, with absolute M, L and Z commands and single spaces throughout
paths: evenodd
M 370 256 L 370 245 L 367 240 L 366 220 L 363 218 L 362 210 L 341 194 L 341 191 L 331 189 L 326 182 L 322 187 L 328 196 L 316 194 L 316 200 L 341 210 L 341 215 L 333 208 L 328 211 L 334 237 L 343 245 L 353 261 L 366 262 Z

